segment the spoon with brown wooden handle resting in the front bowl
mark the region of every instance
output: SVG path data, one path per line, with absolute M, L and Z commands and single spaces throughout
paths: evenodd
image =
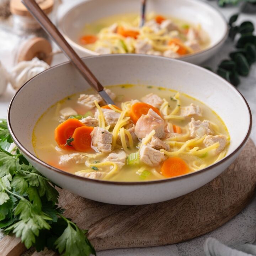
M 65 40 L 57 27 L 49 20 L 46 14 L 42 11 L 39 5 L 34 0 L 22 0 L 22 3 L 27 7 L 32 16 L 40 23 L 41 27 L 49 34 L 50 37 L 62 49 L 63 53 L 71 60 L 73 65 L 79 70 L 81 75 L 86 79 L 89 85 L 94 88 L 107 104 L 114 105 L 110 96 L 103 90 L 103 86 L 92 74 L 91 70 L 85 65 L 81 58 L 76 54 L 73 48 Z

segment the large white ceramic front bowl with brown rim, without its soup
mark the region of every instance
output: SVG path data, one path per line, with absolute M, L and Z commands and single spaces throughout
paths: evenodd
M 227 156 L 206 169 L 148 182 L 91 180 L 56 169 L 38 159 L 31 134 L 47 108 L 68 95 L 89 87 L 71 63 L 37 75 L 21 87 L 8 110 L 8 126 L 18 148 L 46 177 L 59 186 L 95 201 L 113 204 L 148 204 L 182 196 L 222 173 L 238 156 L 251 131 L 251 112 L 244 97 L 218 75 L 180 60 L 137 54 L 116 54 L 83 59 L 103 85 L 145 84 L 185 92 L 206 103 L 225 122 L 231 137 Z

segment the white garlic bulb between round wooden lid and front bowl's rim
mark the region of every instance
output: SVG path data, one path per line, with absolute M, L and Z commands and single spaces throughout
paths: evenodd
M 10 74 L 10 82 L 15 90 L 18 90 L 25 82 L 33 78 L 35 75 L 48 69 L 50 66 L 38 58 L 30 61 L 22 61 L 18 63 Z

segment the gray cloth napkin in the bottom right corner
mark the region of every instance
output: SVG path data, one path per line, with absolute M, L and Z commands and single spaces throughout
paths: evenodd
M 234 248 L 220 243 L 215 238 L 207 238 L 204 242 L 206 256 L 256 256 L 256 245 L 235 245 Z

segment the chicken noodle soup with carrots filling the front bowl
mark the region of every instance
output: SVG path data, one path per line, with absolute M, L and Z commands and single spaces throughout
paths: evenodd
M 228 131 L 202 102 L 154 86 L 105 90 L 115 105 L 104 105 L 90 89 L 42 115 L 32 139 L 38 158 L 82 177 L 149 181 L 194 172 L 225 156 Z

